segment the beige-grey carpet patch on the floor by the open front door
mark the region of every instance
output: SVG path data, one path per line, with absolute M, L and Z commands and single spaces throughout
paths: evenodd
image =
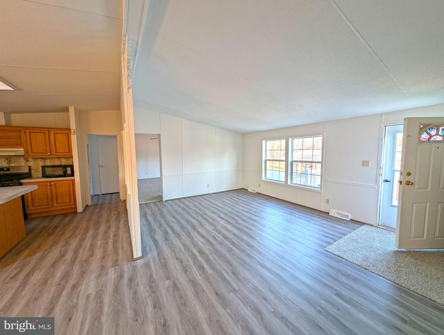
M 444 304 L 444 250 L 397 250 L 393 231 L 368 225 L 325 250 Z

